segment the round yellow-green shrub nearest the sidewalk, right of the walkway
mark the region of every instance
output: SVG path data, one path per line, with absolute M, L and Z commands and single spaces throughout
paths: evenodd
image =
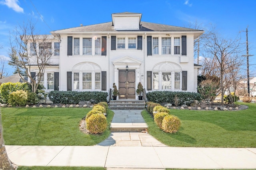
M 180 119 L 174 115 L 167 115 L 162 122 L 162 129 L 168 133 L 176 133 L 180 128 Z

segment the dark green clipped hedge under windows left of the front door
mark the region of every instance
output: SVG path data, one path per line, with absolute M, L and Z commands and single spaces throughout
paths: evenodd
M 56 104 L 78 104 L 81 101 L 97 104 L 107 102 L 108 92 L 51 91 L 48 97 Z

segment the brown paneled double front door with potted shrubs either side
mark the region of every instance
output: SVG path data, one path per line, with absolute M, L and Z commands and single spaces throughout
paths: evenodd
M 135 99 L 135 70 L 119 70 L 119 99 Z

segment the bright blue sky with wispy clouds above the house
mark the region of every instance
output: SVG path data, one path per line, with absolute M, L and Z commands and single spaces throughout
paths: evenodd
M 37 33 L 104 23 L 118 12 L 142 13 L 142 21 L 188 27 L 215 25 L 226 38 L 248 27 L 250 70 L 256 73 L 256 0 L 0 0 L 0 57 L 8 57 L 9 32 L 32 20 Z M 246 33 L 242 32 L 246 42 Z M 245 54 L 246 55 L 246 52 Z M 9 75 L 12 68 L 8 66 Z M 254 74 L 256 76 L 256 74 Z

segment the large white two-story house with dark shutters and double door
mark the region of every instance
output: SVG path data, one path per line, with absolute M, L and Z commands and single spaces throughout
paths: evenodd
M 194 65 L 194 39 L 204 31 L 141 17 L 116 13 L 112 22 L 52 31 L 54 55 L 40 83 L 46 91 L 107 92 L 116 83 L 119 99 L 137 99 L 139 82 L 147 92 L 197 92 L 201 66 Z M 34 67 L 31 74 L 36 73 Z

